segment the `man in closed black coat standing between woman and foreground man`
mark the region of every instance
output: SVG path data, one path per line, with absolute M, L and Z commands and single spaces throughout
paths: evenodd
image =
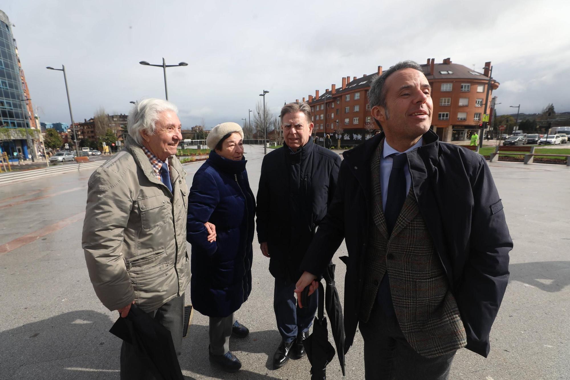
M 312 142 L 311 108 L 289 103 L 280 114 L 283 147 L 263 159 L 257 193 L 257 234 L 275 277 L 273 305 L 282 342 L 273 365 L 305 354 L 303 340 L 315 317 L 317 297 L 306 309 L 295 303 L 295 282 L 336 187 L 340 157 Z

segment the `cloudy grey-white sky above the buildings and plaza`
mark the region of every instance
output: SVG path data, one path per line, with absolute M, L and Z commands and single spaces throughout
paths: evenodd
M 188 62 L 167 69 L 184 127 L 241 123 L 263 90 L 276 114 L 343 76 L 447 57 L 479 71 L 492 62 L 499 114 L 519 103 L 526 113 L 548 103 L 570 111 L 567 1 L 3 0 L 0 9 L 44 122 L 69 121 L 63 75 L 46 66 L 66 65 L 82 121 L 100 107 L 127 113 L 131 100 L 164 97 L 161 68 L 138 63 L 162 57 Z

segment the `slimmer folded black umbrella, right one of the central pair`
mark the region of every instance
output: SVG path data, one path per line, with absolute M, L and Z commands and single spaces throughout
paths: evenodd
M 328 320 L 331 323 L 332 337 L 335 339 L 336 353 L 339 355 L 340 368 L 344 370 L 344 318 L 343 306 L 340 304 L 339 292 L 335 285 L 335 264 L 329 264 L 323 273 L 323 278 L 327 283 L 324 307 L 327 309 Z

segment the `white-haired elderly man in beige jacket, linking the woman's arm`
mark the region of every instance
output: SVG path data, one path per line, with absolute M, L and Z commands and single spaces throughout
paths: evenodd
M 95 293 L 126 317 L 137 304 L 170 333 L 180 355 L 188 186 L 176 158 L 182 140 L 174 104 L 145 99 L 128 120 L 125 148 L 89 179 L 83 249 Z M 215 231 L 206 226 L 209 238 Z M 121 379 L 153 378 L 133 347 L 121 347 Z

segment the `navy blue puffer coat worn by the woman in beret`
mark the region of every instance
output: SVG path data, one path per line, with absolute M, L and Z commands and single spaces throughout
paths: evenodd
M 192 244 L 190 297 L 205 316 L 229 316 L 251 292 L 255 197 L 246 162 L 211 151 L 190 188 L 186 230 Z M 207 241 L 207 221 L 215 225 L 214 242 Z

